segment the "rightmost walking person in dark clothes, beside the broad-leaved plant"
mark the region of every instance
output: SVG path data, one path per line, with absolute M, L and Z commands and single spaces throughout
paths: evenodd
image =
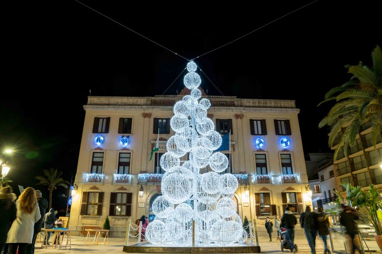
M 356 220 L 359 219 L 360 217 L 358 216 L 357 211 L 350 206 L 345 206 L 340 213 L 340 223 L 346 229 L 346 237 L 349 242 L 348 246 L 350 248 L 350 254 L 354 254 L 355 250 L 362 253 L 356 225 Z

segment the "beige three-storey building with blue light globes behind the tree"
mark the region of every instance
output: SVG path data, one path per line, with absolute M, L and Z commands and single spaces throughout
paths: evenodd
M 71 229 L 102 227 L 109 215 L 112 235 L 125 236 L 130 219 L 135 222 L 143 214 L 150 220 L 155 217 L 151 204 L 161 195 L 164 173 L 159 158 L 175 133 L 170 128 L 174 104 L 188 92 L 88 97 Z M 286 206 L 298 219 L 305 205 L 311 205 L 311 197 L 305 188 L 308 179 L 294 101 L 202 94 L 211 102 L 208 117 L 216 131 L 231 131 L 230 151 L 222 152 L 230 161 L 225 173 L 239 181 L 233 199 L 240 217 L 255 222 L 259 231 L 265 230 L 267 216 L 282 215 Z M 150 160 L 158 131 L 159 151 Z

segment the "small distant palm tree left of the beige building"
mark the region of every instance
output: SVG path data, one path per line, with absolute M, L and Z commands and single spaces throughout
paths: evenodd
M 51 168 L 50 170 L 43 170 L 44 176 L 36 176 L 37 180 L 40 180 L 40 183 L 38 185 L 46 185 L 48 186 L 49 191 L 49 209 L 52 208 L 52 194 L 53 190 L 57 189 L 57 186 L 62 186 L 66 189 L 68 189 L 70 183 L 69 181 L 64 180 L 61 178 L 62 172 L 58 172 L 57 169 Z

